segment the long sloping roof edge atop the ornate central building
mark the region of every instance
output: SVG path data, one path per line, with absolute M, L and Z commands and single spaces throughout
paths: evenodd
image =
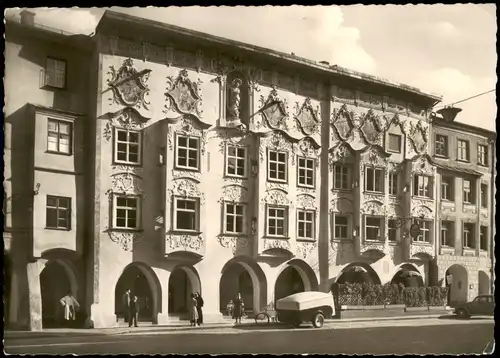
M 112 21 L 112 20 L 131 22 L 131 23 L 136 23 L 136 24 L 146 23 L 148 26 L 160 29 L 160 30 L 165 31 L 165 32 L 171 32 L 171 33 L 175 33 L 178 35 L 189 36 L 189 37 L 197 38 L 197 39 L 200 39 L 203 41 L 208 41 L 208 42 L 211 42 L 214 44 L 229 45 L 229 46 L 237 47 L 237 48 L 242 49 L 242 50 L 255 52 L 255 53 L 258 53 L 258 54 L 261 54 L 264 56 L 274 57 L 277 59 L 288 61 L 290 63 L 295 63 L 295 64 L 299 64 L 302 66 L 307 66 L 309 68 L 314 68 L 314 69 L 319 70 L 319 71 L 324 72 L 324 73 L 343 76 L 343 77 L 349 77 L 349 78 L 363 80 L 363 81 L 367 81 L 367 82 L 372 82 L 372 83 L 376 83 L 376 84 L 383 85 L 386 87 L 392 87 L 392 88 L 395 88 L 398 90 L 412 93 L 414 95 L 418 95 L 420 97 L 424 97 L 427 100 L 431 100 L 434 102 L 433 106 L 436 103 L 440 102 L 443 98 L 442 96 L 439 96 L 439 95 L 423 92 L 420 89 L 415 88 L 415 87 L 411 87 L 411 86 L 401 84 L 401 83 L 394 83 L 394 82 L 391 82 L 389 80 L 382 79 L 382 78 L 379 78 L 376 76 L 372 76 L 369 74 L 364 74 L 361 72 L 349 70 L 347 68 L 340 67 L 338 65 L 333 65 L 333 66 L 322 65 L 322 64 L 319 64 L 315 61 L 312 61 L 312 60 L 309 60 L 306 58 L 302 58 L 302 57 L 298 57 L 298 56 L 294 56 L 294 55 L 290 55 L 290 54 L 287 54 L 284 52 L 279 52 L 276 50 L 272 50 L 272 49 L 268 49 L 268 48 L 264 48 L 264 47 L 260 47 L 260 46 L 250 45 L 250 44 L 246 44 L 243 42 L 226 39 L 226 38 L 220 37 L 220 36 L 210 35 L 210 34 L 207 34 L 204 32 L 195 31 L 195 30 L 187 29 L 184 27 L 176 26 L 176 25 L 165 24 L 165 23 L 155 21 L 155 20 L 144 19 L 144 18 L 137 17 L 137 16 L 123 14 L 121 12 L 116 12 L 116 11 L 112 11 L 112 10 L 105 10 L 103 16 L 101 17 L 99 23 L 96 26 L 96 31 L 95 31 L 96 34 L 99 33 L 99 30 L 104 23 L 106 23 L 107 21 Z

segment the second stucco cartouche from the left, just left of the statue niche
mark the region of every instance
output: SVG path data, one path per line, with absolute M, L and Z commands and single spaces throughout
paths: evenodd
M 167 77 L 165 114 L 174 109 L 180 114 L 190 114 L 201 120 L 203 116 L 201 84 L 200 79 L 192 82 L 185 69 L 179 72 L 177 78 Z

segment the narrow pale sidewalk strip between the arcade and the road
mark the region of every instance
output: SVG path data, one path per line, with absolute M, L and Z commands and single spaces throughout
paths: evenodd
M 429 318 L 439 318 L 450 313 L 430 313 L 430 312 L 413 312 L 406 315 L 399 314 L 398 316 L 385 316 L 385 317 L 352 317 L 352 318 L 341 318 L 341 319 L 328 319 L 325 323 L 327 324 L 346 324 L 350 322 L 372 322 L 372 321 L 390 321 L 390 320 L 413 320 L 413 319 L 429 319 Z M 279 323 L 271 323 L 271 326 L 278 327 Z M 242 321 L 239 327 L 246 327 L 255 329 L 269 327 L 270 325 L 258 325 L 253 319 L 246 319 Z M 78 328 L 51 328 L 45 329 L 43 331 L 31 332 L 31 331 L 4 331 L 4 339 L 23 339 L 23 338 L 48 338 L 48 337 L 77 337 L 77 336 L 114 336 L 128 333 L 135 334 L 145 334 L 147 332 L 173 332 L 173 331 L 186 331 L 186 332 L 196 332 L 196 331 L 209 331 L 211 329 L 221 329 L 221 328 L 231 328 L 234 327 L 232 320 L 220 323 L 207 323 L 201 327 L 190 327 L 187 322 L 172 322 L 167 325 L 147 325 L 139 327 L 110 327 L 110 328 L 94 328 L 94 329 L 78 329 Z

